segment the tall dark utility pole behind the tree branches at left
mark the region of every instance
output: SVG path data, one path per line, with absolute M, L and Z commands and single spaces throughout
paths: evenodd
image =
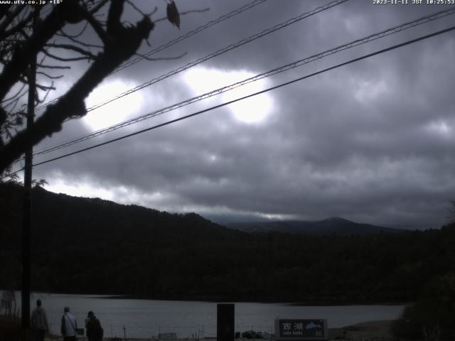
M 33 28 L 39 18 L 39 9 L 33 9 Z M 36 55 L 28 67 L 28 105 L 27 105 L 27 126 L 30 130 L 35 117 L 35 92 L 36 92 Z M 30 341 L 30 291 L 31 291 L 31 171 L 32 171 L 33 146 L 25 153 L 25 166 L 23 175 L 23 222 L 22 222 L 22 341 Z

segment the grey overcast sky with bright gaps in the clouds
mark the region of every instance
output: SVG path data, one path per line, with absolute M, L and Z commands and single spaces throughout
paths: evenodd
M 210 8 L 160 21 L 146 53 L 250 1 L 176 1 Z M 268 0 L 162 51 L 178 60 L 146 61 L 108 77 L 87 106 L 252 36 L 328 1 Z M 412 3 L 412 0 L 408 0 Z M 144 11 L 164 1 L 137 1 Z M 294 23 L 65 124 L 35 151 L 229 85 L 351 40 L 447 9 L 443 5 L 350 0 Z M 130 21 L 137 13 L 127 9 Z M 336 53 L 48 153 L 35 163 L 279 85 L 325 67 L 447 28 L 454 15 Z M 439 228 L 455 200 L 455 33 L 325 72 L 293 85 L 160 129 L 34 168 L 56 193 L 102 197 L 217 222 L 339 216 L 408 229 Z M 86 63 L 58 83 L 61 94 Z

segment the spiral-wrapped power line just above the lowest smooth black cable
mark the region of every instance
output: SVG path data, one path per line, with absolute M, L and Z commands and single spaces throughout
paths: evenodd
M 267 72 L 263 72 L 263 73 L 261 73 L 259 75 L 255 75 L 253 77 L 247 78 L 247 79 L 242 80 L 240 82 L 236 82 L 236 83 L 233 83 L 231 85 L 227 85 L 225 87 L 221 87 L 221 88 L 219 88 L 217 90 L 212 90 L 210 92 L 206 92 L 205 94 L 201 94 L 199 96 L 192 97 L 191 99 L 186 99 L 185 101 L 182 101 L 182 102 L 179 102 L 179 103 L 176 103 L 176 104 L 171 104 L 168 107 L 164 107 L 164 108 L 158 109 L 158 110 L 156 110 L 154 112 L 149 112 L 148 114 L 144 114 L 144 115 L 141 115 L 139 117 L 135 117 L 134 119 L 129 119 L 129 120 L 124 121 L 122 123 L 115 124 L 113 126 L 109 126 L 109 127 L 105 128 L 105 129 L 100 129 L 98 131 L 94 131 L 94 132 L 92 132 L 90 134 L 87 134 L 85 136 L 80 136 L 77 139 L 66 141 L 63 144 L 58 144 L 56 146 L 53 146 L 53 147 L 50 147 L 50 148 L 46 148 L 46 149 L 44 149 L 42 151 L 38 151 L 37 153 L 34 154 L 34 156 L 42 155 L 42 154 L 45 154 L 45 153 L 50 153 L 52 151 L 57 151 L 58 149 L 65 148 L 65 147 L 68 147 L 68 146 L 72 146 L 73 144 L 77 144 L 77 143 L 80 143 L 82 141 L 86 141 L 88 139 L 93 139 L 93 138 L 95 138 L 97 136 L 101 136 L 101 135 L 107 134 L 107 133 L 109 133 L 111 131 L 115 131 L 117 129 L 121 129 L 121 128 L 125 127 L 125 126 L 129 126 L 131 124 L 138 123 L 139 121 L 144 121 L 145 119 L 149 119 L 151 117 L 159 116 L 159 115 L 164 114 L 166 112 L 170 112 L 170 111 L 172 111 L 174 109 L 178 109 L 178 108 L 184 107 L 184 106 L 186 106 L 188 104 L 193 104 L 193 103 L 198 102 L 200 100 L 203 100 L 203 99 L 206 99 L 206 98 L 209 98 L 209 97 L 213 97 L 216 94 L 221 94 L 223 92 L 227 92 L 227 91 L 233 90 L 233 89 L 235 89 L 237 87 L 241 87 L 242 85 L 246 85 L 246 84 L 248 84 L 250 82 L 255 82 L 255 81 L 261 80 L 262 78 L 265 78 L 265 77 L 270 77 L 272 75 L 277 75 L 278 73 L 294 69 L 295 67 L 299 67 L 299 66 L 305 65 L 307 63 L 311 63 L 314 60 L 319 60 L 319 59 L 324 58 L 324 57 L 326 57 L 328 55 L 332 55 L 334 53 L 338 53 L 338 52 L 340 52 L 342 50 L 347 50 L 349 48 L 353 48 L 355 46 L 362 45 L 364 43 L 368 43 L 370 41 L 373 41 L 373 40 L 376 40 L 376 39 L 379 39 L 379 38 L 384 38 L 385 36 L 390 36 L 391 34 L 398 33 L 400 31 L 404 31 L 404 30 L 406 30 L 408 28 L 412 28 L 412 27 L 415 27 L 415 26 L 418 26 L 418 25 L 422 25 L 423 23 L 427 23 L 429 21 L 434 21 L 434 20 L 437 20 L 439 18 L 444 18 L 445 16 L 449 16 L 449 15 L 452 15 L 454 13 L 455 13 L 455 7 L 451 8 L 451 9 L 446 9 L 445 11 L 439 11 L 437 13 L 432 13 L 432 14 L 430 14 L 428 16 L 424 16 L 422 18 L 415 19 L 414 21 L 409 21 L 407 23 L 402 23 L 401 25 L 394 26 L 392 28 L 388 28 L 387 30 L 380 31 L 379 33 L 374 33 L 374 34 L 372 34 L 370 36 L 366 36 L 366 37 L 360 38 L 358 40 L 353 40 L 350 43 L 346 43 L 346 44 L 340 45 L 340 46 L 338 46 L 336 48 L 332 48 L 331 50 L 326 50 L 326 51 L 324 51 L 322 53 L 318 53 L 316 55 L 311 55 L 310 57 L 297 60 L 297 61 L 295 61 L 293 63 L 289 63 L 287 65 L 283 65 L 281 67 L 274 68 L 272 70 L 269 70 Z

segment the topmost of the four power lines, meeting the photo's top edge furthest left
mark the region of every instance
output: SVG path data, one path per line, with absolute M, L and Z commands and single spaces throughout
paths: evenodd
M 129 66 L 132 66 L 132 65 L 136 64 L 136 63 L 139 63 L 141 60 L 143 60 L 146 57 L 149 57 L 151 55 L 159 53 L 162 50 L 165 50 L 166 48 L 169 48 L 172 45 L 175 45 L 176 43 L 181 42 L 182 40 L 185 40 L 187 38 L 190 38 L 191 36 L 194 36 L 196 33 L 204 31 L 205 29 L 207 29 L 207 28 L 209 28 L 211 26 L 215 26 L 217 23 L 225 21 L 228 18 L 232 18 L 233 16 L 237 16 L 238 14 L 240 14 L 242 12 L 245 12 L 248 9 L 252 9 L 253 7 L 255 7 L 257 5 L 264 3 L 265 1 L 267 1 L 267 0 L 254 0 L 254 1 L 250 2 L 250 4 L 246 4 L 246 5 L 238 8 L 238 9 L 235 9 L 234 11 L 230 11 L 229 13 L 223 14 L 223 16 L 220 16 L 220 17 L 216 18 L 215 20 L 209 21 L 208 23 L 205 23 L 204 25 L 199 26 L 198 28 L 194 29 L 193 31 L 189 31 L 188 33 L 183 34 L 182 36 L 179 36 L 179 37 L 177 37 L 177 38 L 175 38 L 173 40 L 169 40 L 167 43 L 164 43 L 163 45 L 159 46 L 158 48 L 154 48 L 153 50 L 150 50 L 148 53 L 146 53 L 145 55 L 142 55 L 141 57 L 138 57 L 138 58 L 136 58 L 134 60 L 131 60 L 131 61 L 127 62 L 127 63 L 124 63 L 124 64 L 120 65 L 119 67 L 117 67 L 117 69 L 112 71 L 109 75 L 113 75 L 114 73 L 119 72 L 120 70 L 123 70 L 123 69 L 125 69 L 125 68 L 127 68 Z M 57 102 L 58 99 L 60 99 L 60 98 L 61 97 L 57 97 L 57 98 L 47 102 L 46 104 L 41 105 L 40 107 L 37 108 L 37 110 L 41 110 L 41 109 L 47 107 L 48 105 Z

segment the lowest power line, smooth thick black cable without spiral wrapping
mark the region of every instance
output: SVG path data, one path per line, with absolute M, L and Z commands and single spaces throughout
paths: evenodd
M 167 121 L 167 122 L 164 122 L 162 124 L 157 124 L 156 126 L 151 126 L 147 129 L 142 129 L 140 131 L 136 131 L 132 134 L 127 134 L 127 135 L 124 135 L 124 136 L 120 136 L 118 137 L 117 139 L 112 139 L 112 140 L 109 140 L 109 141 L 105 141 L 101 144 L 96 144 L 94 146 L 90 146 L 90 147 L 87 147 L 87 148 L 83 148 L 83 149 L 80 149 L 78 151 L 74 151 L 73 153 L 67 153 L 67 154 L 64 154 L 62 156 L 58 156 L 56 158 L 51 158 L 49 160 L 46 160 L 46 161 L 42 161 L 40 163 L 35 163 L 33 166 L 40 166 L 40 165 L 43 165 L 45 163 L 50 163 L 52 161 L 56 161 L 56 160 L 59 160 L 60 158 L 66 158 L 68 156 L 73 156 L 77 153 L 82 153 L 83 151 L 89 151 L 90 149 L 93 149 L 93 148 L 97 148 L 97 147 L 100 147 L 100 146 L 105 146 L 106 144 L 111 144 L 112 142 L 115 142 L 115 141 L 119 141 L 119 140 L 122 140 L 122 139 L 127 139 L 128 137 L 131 137 L 131 136 L 135 136 L 135 135 L 138 135 L 138 134 L 142 134 L 146 131 L 150 131 L 150 130 L 154 130 L 154 129 L 157 129 L 157 128 L 160 128 L 161 126 L 167 126 L 169 124 L 172 124 L 172 123 L 176 123 L 178 121 L 183 121 L 183 119 L 188 119 L 190 117 L 195 117 L 199 114 L 203 114 L 204 112 L 209 112 L 213 109 L 218 109 L 220 107 L 225 107 L 226 105 L 229 105 L 229 104 L 232 104 L 232 103 L 235 103 L 235 102 L 238 102 L 238 101 L 241 101 L 242 99 L 247 99 L 247 98 L 250 98 L 250 97 L 253 97 L 253 96 L 256 96 L 258 94 L 263 94 L 264 92 L 269 92 L 269 91 L 272 91 L 272 90 L 277 90 L 279 89 L 280 87 L 284 87 L 286 85 L 290 85 L 290 84 L 293 84 L 295 82 L 299 82 L 301 80 L 305 80 L 306 78 L 309 78 L 309 77 L 314 77 L 316 75 L 320 75 L 321 73 L 324 73 L 324 72 L 328 72 L 330 70 L 334 70 L 338 67 L 342 67 L 342 66 L 345 66 L 345 65 L 349 65 L 349 64 L 352 64 L 352 63 L 355 63 L 355 62 L 358 62 L 359 60 L 363 60 L 363 59 L 366 59 L 366 58 L 370 58 L 370 57 L 373 57 L 375 55 L 380 55 L 381 53 L 385 53 L 387 51 L 390 51 L 390 50 L 395 50 L 397 48 L 401 48 L 405 45 L 410 45 L 412 43 L 417 43 L 418 41 L 420 40 L 424 40 L 424 39 L 428 39 L 428 38 L 432 38 L 434 36 L 439 36 L 440 34 L 442 33 L 446 33 L 446 32 L 449 32 L 449 31 L 454 31 L 455 30 L 455 26 L 451 26 L 449 28 L 446 28 L 444 30 L 441 30 L 441 31 L 437 31 L 437 32 L 434 32 L 434 33 L 430 33 L 430 34 L 427 34 L 426 36 L 421 36 L 419 38 L 415 38 L 415 39 L 412 39 L 412 40 L 407 40 L 405 41 L 405 43 L 400 43 L 400 44 L 397 44 L 397 45 L 393 45 L 393 46 L 390 46 L 389 48 L 384 48 L 382 50 L 378 50 L 376 52 L 373 52 L 373 53 L 368 53 L 368 55 L 363 55 L 361 57 L 358 57 L 358 58 L 354 58 L 354 59 L 351 59 L 351 60 L 348 60 L 347 62 L 345 63 L 341 63 L 341 64 L 337 64 L 337 65 L 334 65 L 332 67 L 328 67 L 326 69 L 323 69 L 323 70 L 320 70 L 318 72 L 314 72 L 314 73 L 311 73 L 310 75 L 306 75 L 306 76 L 303 76 L 303 77 L 299 77 L 299 78 L 296 78 L 295 80 L 290 80 L 289 82 L 284 82 L 280 85 L 276 85 L 274 87 L 269 87 L 265 90 L 262 90 L 262 91 L 259 91 L 259 92 L 255 92 L 253 94 L 248 94 L 247 96 L 243 96 L 243 97 L 240 97 L 240 98 L 237 98 L 237 99 L 232 99 L 232 101 L 229 101 L 229 102 L 225 102 L 225 103 L 222 103 L 222 104 L 218 104 L 218 105 L 215 105 L 213 107 L 210 107 L 210 108 L 207 108 L 207 109 L 203 109 L 203 110 L 200 110 L 198 112 L 194 112 L 193 114 L 189 114 L 189 115 L 186 115 L 186 116 L 183 116 L 183 117 L 179 117 L 178 119 L 173 119 L 171 121 Z M 21 171 L 21 170 L 19 170 Z M 18 172 L 18 171 L 17 171 Z M 15 172 L 15 173 L 17 173 Z

